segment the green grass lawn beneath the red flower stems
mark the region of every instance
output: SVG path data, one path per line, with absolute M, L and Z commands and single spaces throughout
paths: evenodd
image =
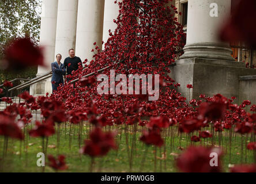
M 113 127 L 112 129 L 114 129 Z M 84 132 L 82 135 L 82 140 L 86 139 L 87 134 L 89 132 L 89 127 L 84 127 Z M 79 155 L 78 150 L 78 135 L 77 135 L 77 128 L 75 128 L 75 133 L 72 132 L 71 136 L 71 149 L 69 148 L 69 127 L 67 127 L 66 135 L 65 135 L 65 128 L 61 129 L 61 141 L 60 141 L 60 150 L 59 153 L 66 156 L 66 163 L 67 166 L 69 166 L 68 170 L 66 172 L 88 172 L 89 166 L 91 163 L 91 158 L 86 155 Z M 141 136 L 141 131 L 139 130 L 136 134 L 136 148 L 134 151 L 134 159 L 133 159 L 133 172 L 140 171 L 140 166 L 142 163 L 142 158 L 145 155 L 146 151 L 146 145 L 143 144 L 139 138 Z M 120 140 L 120 131 L 118 135 L 118 139 Z M 133 135 L 131 133 L 129 134 L 129 147 L 131 147 L 131 138 Z M 28 153 L 25 154 L 24 150 L 24 141 L 18 141 L 14 139 L 10 139 L 8 143 L 8 150 L 7 150 L 7 156 L 4 160 L 0 161 L 0 172 L 42 172 L 42 167 L 37 167 L 36 162 L 37 158 L 36 155 L 39 152 L 42 152 L 42 139 L 40 138 L 32 138 L 28 137 L 26 138 L 28 140 Z M 171 138 L 167 137 L 166 139 L 166 159 L 163 158 L 163 150 L 164 148 L 160 149 L 157 148 L 157 172 L 161 171 L 163 172 L 176 172 L 175 168 L 175 157 L 176 154 L 180 154 L 182 151 L 178 148 L 179 146 L 186 148 L 187 145 L 190 144 L 190 141 L 186 141 L 187 137 L 183 135 L 181 141 L 179 136 L 175 136 L 174 138 L 174 145 L 171 147 Z M 225 133 L 223 133 L 223 143 L 225 146 L 225 140 L 227 137 L 225 137 Z M 216 137 L 216 143 L 218 144 L 218 137 Z M 249 141 L 249 139 L 248 139 Z M 57 144 L 57 135 L 49 137 L 48 139 L 48 145 L 56 145 Z M 208 141 L 202 140 L 201 143 L 193 143 L 194 145 L 206 145 L 211 144 L 211 140 L 208 139 Z M 239 164 L 240 163 L 240 157 L 241 154 L 241 138 L 240 135 L 233 137 L 232 139 L 232 151 L 231 151 L 231 162 L 230 164 Z M 84 142 L 82 141 L 81 146 L 84 145 Z M 0 158 L 2 158 L 2 150 L 3 150 L 3 137 L 0 137 Z M 21 150 L 21 152 L 20 152 Z M 149 146 L 148 152 L 146 155 L 146 160 L 144 162 L 144 169 L 143 172 L 154 172 L 154 150 L 155 147 Z M 224 147 L 225 152 L 225 147 Z M 52 154 L 54 156 L 57 156 L 57 148 L 47 148 L 47 154 Z M 245 150 L 244 150 L 245 154 Z M 27 159 L 26 159 L 27 156 Z M 162 158 L 162 159 L 160 159 Z M 254 163 L 254 157 L 253 152 L 247 150 L 247 160 L 245 162 L 245 155 L 243 156 L 243 162 L 244 163 Z M 48 159 L 46 158 L 46 163 L 48 162 Z M 224 171 L 227 172 L 229 170 L 228 164 L 229 164 L 229 152 L 224 155 L 222 159 L 222 164 Z M 160 167 L 161 165 L 161 167 Z M 46 166 L 45 168 L 46 172 L 54 172 L 52 168 L 49 166 Z M 122 132 L 122 139 L 119 143 L 119 149 L 118 151 L 111 150 L 108 152 L 107 156 L 104 156 L 103 158 L 96 158 L 95 159 L 95 165 L 93 168 L 94 172 L 129 172 L 129 159 L 128 159 L 128 153 L 127 153 L 127 147 L 126 147 L 126 140 L 125 140 L 125 133 Z

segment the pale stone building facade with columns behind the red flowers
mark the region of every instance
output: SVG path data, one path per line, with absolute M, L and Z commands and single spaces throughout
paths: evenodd
M 187 33 L 185 53 L 171 68 L 170 75 L 183 85 L 180 92 L 187 99 L 197 98 L 201 93 L 209 96 L 221 93 L 240 100 L 240 76 L 256 75 L 256 70 L 245 67 L 246 62 L 249 66 L 256 64 L 255 52 L 243 43 L 223 43 L 219 40 L 221 22 L 230 16 L 237 2 L 173 0 L 170 3 L 181 12 L 175 16 Z M 218 14 L 213 17 L 209 14 L 212 3 L 217 5 Z M 75 49 L 82 61 L 92 60 L 93 43 L 99 43 L 101 47 L 101 41 L 107 41 L 108 30 L 114 32 L 116 28 L 113 19 L 118 14 L 118 3 L 114 0 L 43 0 L 40 45 L 46 48 L 45 62 L 49 67 L 39 67 L 37 75 L 51 70 L 50 63 L 54 62 L 57 53 L 61 53 L 63 62 L 70 48 Z M 190 97 L 185 87 L 189 83 L 194 86 Z M 33 95 L 47 92 L 51 93 L 50 79 L 31 86 Z M 256 97 L 251 98 L 256 101 Z

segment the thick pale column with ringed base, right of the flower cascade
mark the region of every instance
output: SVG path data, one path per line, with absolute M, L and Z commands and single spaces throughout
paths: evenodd
M 217 5 L 217 17 L 210 16 L 212 3 Z M 201 57 L 234 60 L 228 43 L 219 40 L 219 28 L 231 14 L 231 0 L 189 0 L 187 43 L 180 59 Z

